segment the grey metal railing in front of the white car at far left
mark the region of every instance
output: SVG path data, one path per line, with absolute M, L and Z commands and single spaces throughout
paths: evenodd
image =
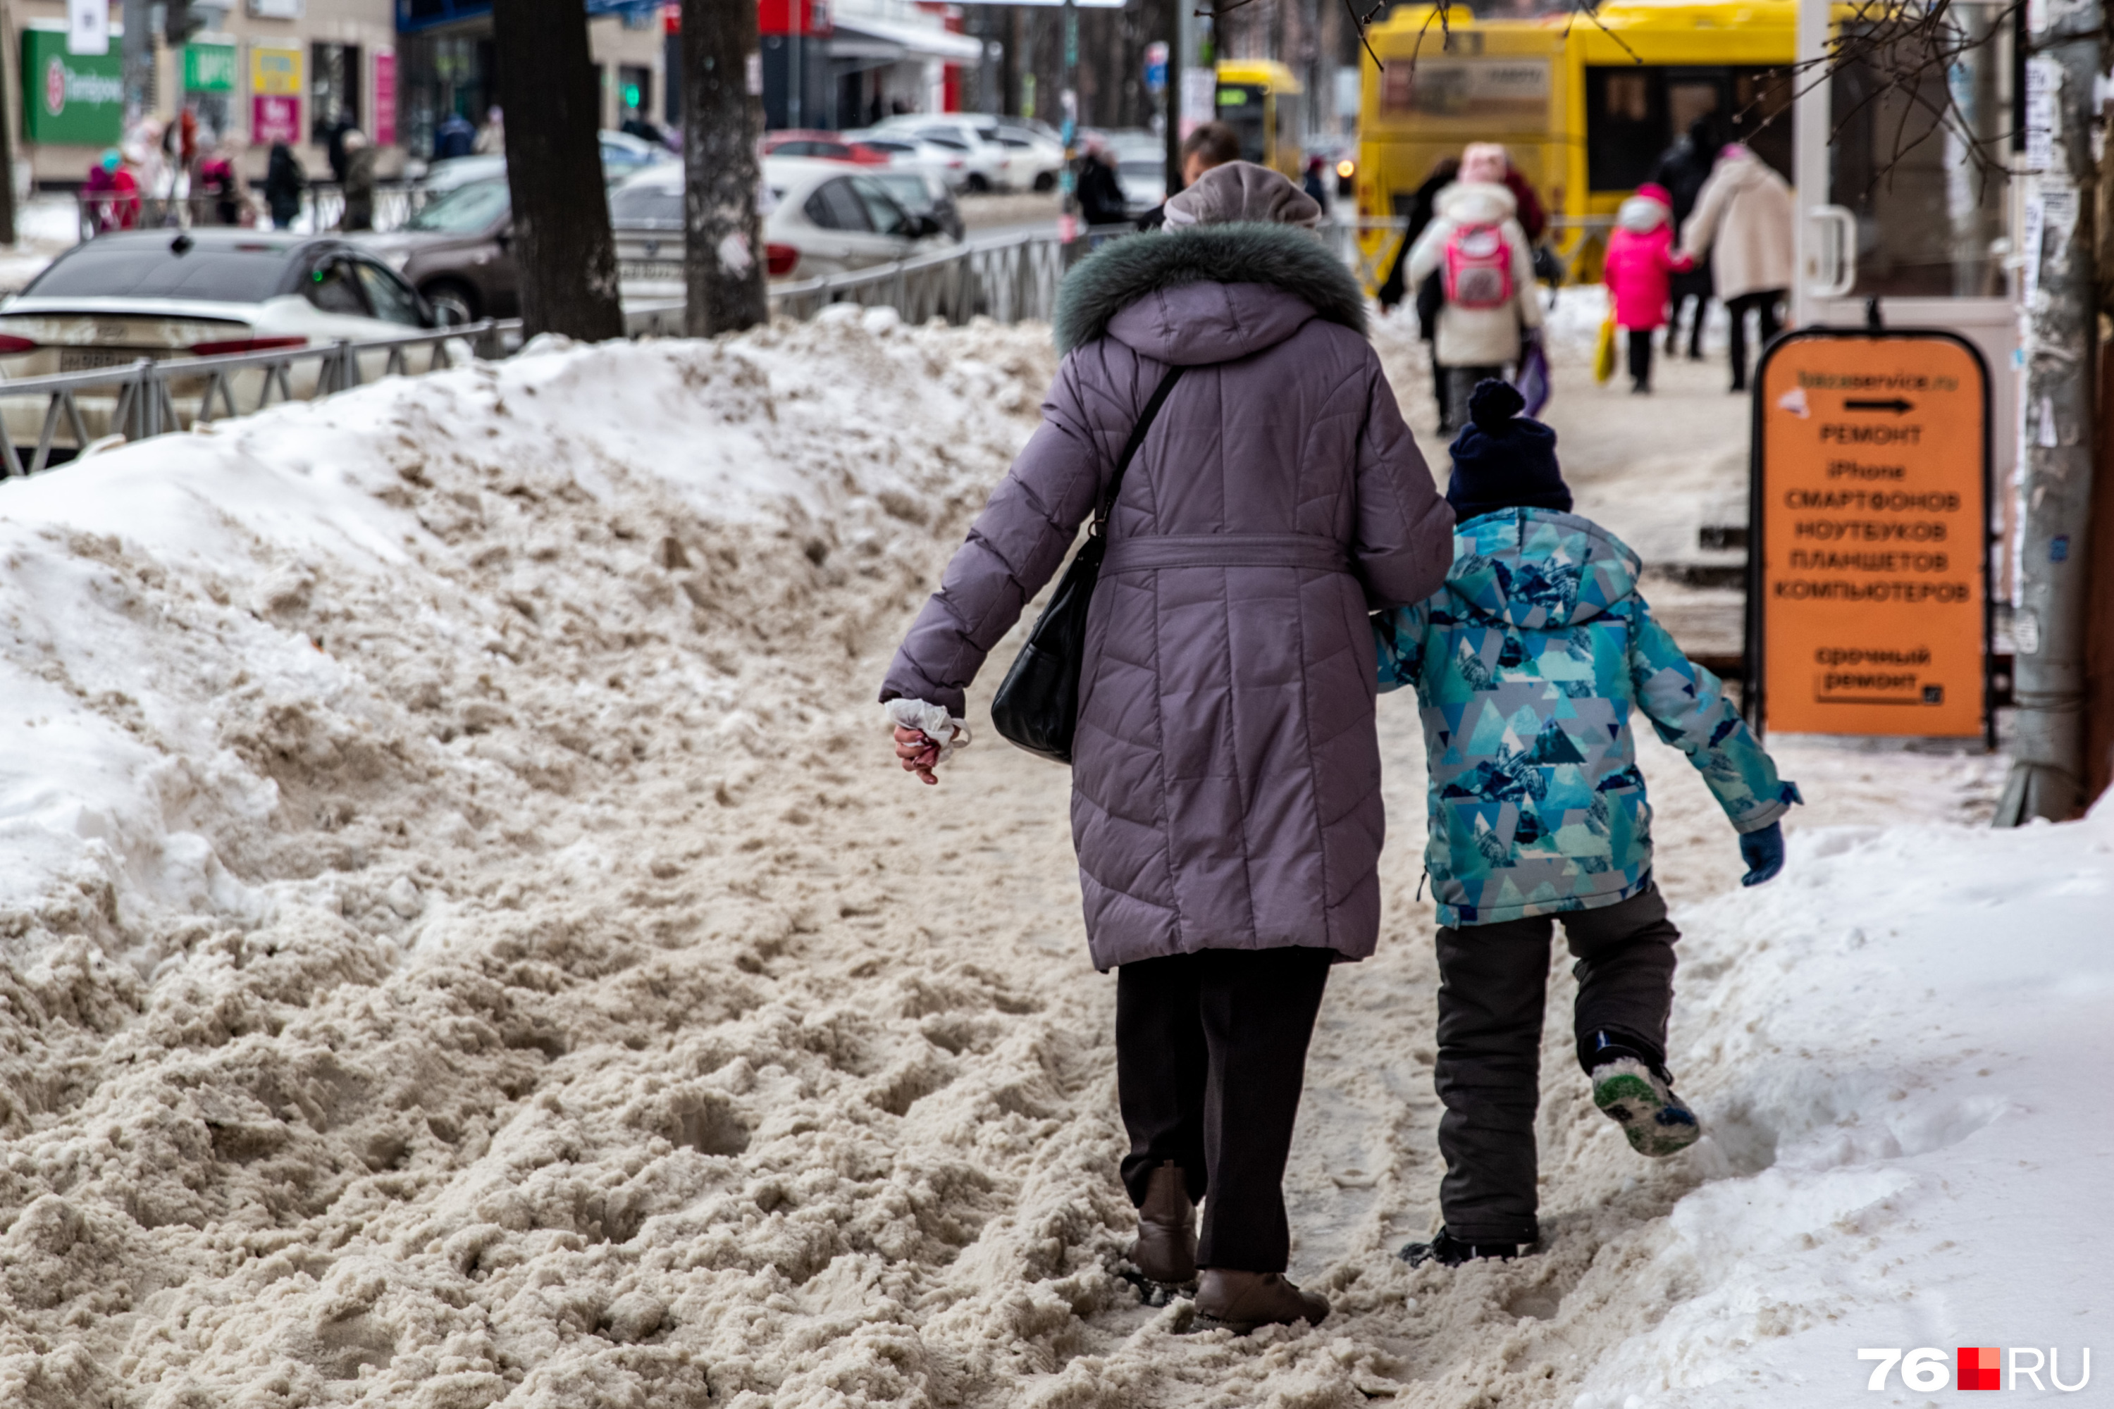
M 457 351 L 490 355 L 509 336 L 520 334 L 520 319 L 486 319 L 459 327 L 435 327 L 391 338 L 359 342 L 319 342 L 311 346 L 271 349 L 262 353 L 224 353 L 216 357 L 140 357 L 125 368 L 57 372 L 0 380 L 0 463 L 6 475 L 34 475 L 51 467 L 55 450 L 80 454 L 97 439 L 120 435 L 127 442 L 184 431 L 226 416 L 247 416 L 275 401 L 311 401 L 359 387 L 368 376 L 410 376 L 452 368 Z M 425 349 L 425 365 L 414 365 L 412 353 Z M 361 365 L 368 363 L 368 365 Z M 370 368 L 374 368 L 370 372 Z M 249 376 L 254 374 L 254 376 Z M 241 399 L 249 395 L 245 408 Z M 104 399 L 110 406 L 104 406 Z M 36 446 L 23 461 L 17 446 L 17 416 L 23 401 L 42 399 L 36 420 Z M 85 406 L 87 403 L 87 406 Z M 104 427 L 91 431 L 91 422 Z M 72 446 L 61 446 L 61 435 Z

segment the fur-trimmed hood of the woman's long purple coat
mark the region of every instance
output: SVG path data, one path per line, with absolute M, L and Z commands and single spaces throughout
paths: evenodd
M 1182 365 L 1283 342 L 1311 319 L 1366 334 L 1366 292 L 1306 230 L 1194 226 L 1110 241 L 1057 289 L 1057 351 L 1116 338 Z

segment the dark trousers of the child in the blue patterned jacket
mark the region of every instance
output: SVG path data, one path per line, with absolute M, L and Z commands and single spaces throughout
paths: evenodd
M 1550 936 L 1562 919 L 1577 957 L 1579 1065 L 1611 1033 L 1666 1065 L 1674 940 L 1657 887 L 1621 904 L 1440 929 L 1440 1213 L 1465 1242 L 1533 1242 L 1535 1105 L 1541 1098 L 1541 1008 Z

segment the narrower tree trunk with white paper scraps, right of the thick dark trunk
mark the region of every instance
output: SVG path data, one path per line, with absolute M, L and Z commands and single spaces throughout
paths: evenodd
M 755 2 L 683 0 L 683 327 L 693 338 L 769 319 L 757 215 L 761 135 Z

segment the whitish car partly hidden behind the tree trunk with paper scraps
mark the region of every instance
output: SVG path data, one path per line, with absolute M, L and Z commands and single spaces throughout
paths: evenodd
M 953 243 L 860 167 L 763 158 L 763 258 L 772 279 L 818 279 Z M 683 296 L 683 167 L 641 171 L 609 196 L 626 300 Z

